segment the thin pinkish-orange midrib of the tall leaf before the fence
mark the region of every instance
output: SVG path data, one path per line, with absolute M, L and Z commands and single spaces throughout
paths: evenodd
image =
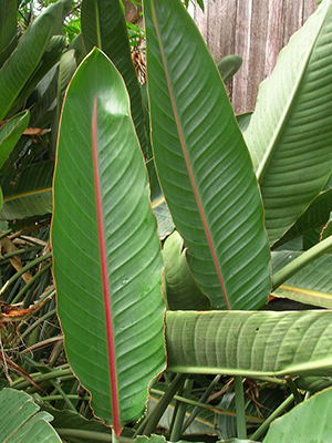
M 190 166 L 190 163 L 189 163 L 189 157 L 188 157 L 186 144 L 185 144 L 185 141 L 184 141 L 184 135 L 183 135 L 183 132 L 181 132 L 181 127 L 180 127 L 180 124 L 179 124 L 179 120 L 178 120 L 178 115 L 177 115 L 177 111 L 176 111 L 176 106 L 175 106 L 175 101 L 174 101 L 174 96 L 173 96 L 173 90 L 172 90 L 172 86 L 170 86 L 170 81 L 169 81 L 166 59 L 165 59 L 165 55 L 164 55 L 160 34 L 159 34 L 159 29 L 158 29 L 158 24 L 157 24 L 156 11 L 155 11 L 155 7 L 154 7 L 153 2 L 152 2 L 152 12 L 153 12 L 153 19 L 154 19 L 155 29 L 156 29 L 156 33 L 157 33 L 157 38 L 158 38 L 159 48 L 160 48 L 160 54 L 162 54 L 163 64 L 164 64 L 164 69 L 165 69 L 165 75 L 166 75 L 166 81 L 167 81 L 167 85 L 168 85 L 168 91 L 169 91 L 172 107 L 173 107 L 173 112 L 174 112 L 174 117 L 175 117 L 177 131 L 178 131 L 179 138 L 180 138 L 180 144 L 181 144 L 181 147 L 183 147 L 186 165 L 187 165 L 187 168 L 188 168 L 188 173 L 189 173 L 193 190 L 194 190 L 195 198 L 196 198 L 196 202 L 197 202 L 197 206 L 198 206 L 198 210 L 199 210 L 200 218 L 201 218 L 201 222 L 203 222 L 203 226 L 204 226 L 204 229 L 205 229 L 205 234 L 207 236 L 209 248 L 210 248 L 210 251 L 211 251 L 211 255 L 212 255 L 212 260 L 215 262 L 215 267 L 216 267 L 216 270 L 217 270 L 219 284 L 220 284 L 220 287 L 221 287 L 221 290 L 222 290 L 222 295 L 224 295 L 224 298 L 225 298 L 225 301 L 226 301 L 227 309 L 229 310 L 228 298 L 227 298 L 227 295 L 226 295 L 226 289 L 225 289 L 225 286 L 224 286 L 224 280 L 222 280 L 222 276 L 221 276 L 221 272 L 220 272 L 220 268 L 219 268 L 219 264 L 218 264 L 215 246 L 214 246 L 212 238 L 211 238 L 211 235 L 210 235 L 210 231 L 209 231 L 209 227 L 207 225 L 206 216 L 205 216 L 201 203 L 200 203 L 200 198 L 199 198 L 199 195 L 198 195 L 196 182 L 195 182 L 194 174 L 193 174 L 193 171 L 191 171 L 191 166 Z

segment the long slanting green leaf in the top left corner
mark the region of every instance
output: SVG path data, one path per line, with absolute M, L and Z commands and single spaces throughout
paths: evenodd
M 61 18 L 62 2 L 45 9 L 24 32 L 19 45 L 0 70 L 0 122 L 38 66 Z

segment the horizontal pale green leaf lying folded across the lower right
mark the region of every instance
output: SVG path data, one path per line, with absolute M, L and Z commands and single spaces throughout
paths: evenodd
M 332 311 L 167 311 L 167 368 L 245 377 L 331 375 L 331 337 Z

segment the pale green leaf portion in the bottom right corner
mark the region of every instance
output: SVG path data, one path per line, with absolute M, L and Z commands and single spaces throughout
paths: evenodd
M 329 442 L 332 388 L 317 393 L 271 423 L 263 443 Z

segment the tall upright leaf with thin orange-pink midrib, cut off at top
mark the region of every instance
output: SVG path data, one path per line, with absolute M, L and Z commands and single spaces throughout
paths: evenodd
M 144 3 L 153 150 L 188 264 L 212 305 L 253 309 L 270 254 L 252 163 L 220 75 L 178 0 Z

